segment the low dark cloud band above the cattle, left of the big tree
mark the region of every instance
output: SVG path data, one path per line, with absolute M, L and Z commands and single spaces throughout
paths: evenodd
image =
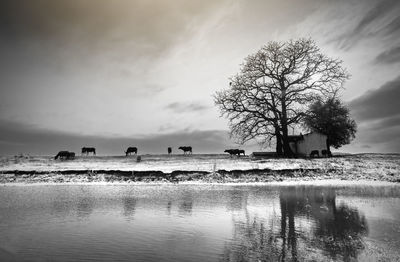
M 181 130 L 167 134 L 146 134 L 134 137 L 88 136 L 40 129 L 35 126 L 0 121 L 0 155 L 29 153 L 53 155 L 60 150 L 80 152 L 83 146 L 96 147 L 100 155 L 123 154 L 128 146 L 139 148 L 140 154 L 163 154 L 167 147 L 190 145 L 194 153 L 223 153 L 234 143 L 226 130 Z

